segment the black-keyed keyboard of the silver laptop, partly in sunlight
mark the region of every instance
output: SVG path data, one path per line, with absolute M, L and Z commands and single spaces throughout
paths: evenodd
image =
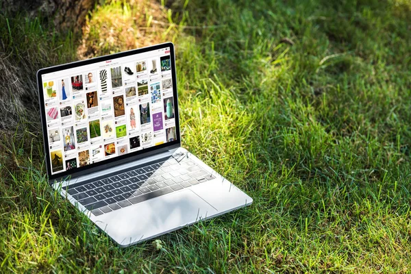
M 119 173 L 99 177 L 66 191 L 96 216 L 215 179 L 184 157 L 168 158 Z

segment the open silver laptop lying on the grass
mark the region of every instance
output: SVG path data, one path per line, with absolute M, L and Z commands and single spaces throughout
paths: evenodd
M 173 43 L 37 81 L 49 184 L 121 247 L 252 203 L 181 146 Z

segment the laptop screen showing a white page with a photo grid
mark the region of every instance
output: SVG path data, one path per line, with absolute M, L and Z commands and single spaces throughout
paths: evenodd
M 51 175 L 177 140 L 170 46 L 39 71 Z

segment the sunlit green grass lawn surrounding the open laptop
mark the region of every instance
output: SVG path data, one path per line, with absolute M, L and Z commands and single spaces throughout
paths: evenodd
M 173 40 L 184 147 L 253 205 L 161 236 L 161 249 L 119 249 L 47 186 L 36 115 L 23 115 L 0 142 L 1 270 L 408 273 L 410 3 L 165 4 L 98 6 L 80 42 L 25 19 L 1 28 L 2 47 L 37 69 L 135 46 L 99 40 L 99 24 Z

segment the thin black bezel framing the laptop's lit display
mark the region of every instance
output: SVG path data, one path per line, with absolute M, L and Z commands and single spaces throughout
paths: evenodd
M 121 156 L 116 156 L 115 158 L 111 158 L 108 160 L 103 160 L 101 162 L 97 162 L 95 164 L 89 164 L 87 166 L 82 166 L 82 167 L 77 167 L 74 170 L 70 171 L 64 171 L 61 173 L 56 173 L 56 174 L 51 174 L 51 160 L 48 157 L 49 155 L 49 139 L 47 138 L 47 121 L 46 121 L 46 114 L 45 114 L 45 99 L 44 99 L 44 92 L 42 89 L 42 75 L 45 75 L 47 73 L 53 73 L 56 71 L 62 71 L 65 69 L 73 69 L 79 66 L 85 66 L 89 64 L 95 64 L 97 62 L 104 62 L 108 60 L 114 60 L 116 58 L 123 58 L 129 55 L 134 55 L 134 54 L 140 54 L 140 53 L 145 53 L 148 51 L 155 51 L 159 49 L 164 49 L 164 48 L 170 48 L 170 58 L 171 58 L 171 78 L 173 81 L 173 97 L 174 97 L 174 106 L 175 106 L 175 129 L 176 129 L 176 134 L 177 134 L 177 140 L 174 140 L 172 142 L 165 142 L 164 144 L 161 145 L 155 145 L 153 147 L 149 147 L 146 149 L 141 149 L 139 151 L 135 151 L 133 153 L 127 153 L 125 155 Z M 172 42 L 166 42 L 162 43 L 159 45 L 153 45 L 150 47 L 144 47 L 141 49 L 132 49 L 130 51 L 123 51 L 119 53 L 114 53 L 110 55 L 103 55 L 97 58 L 90 58 L 88 60 L 81 60 L 77 62 L 71 62 L 69 64 L 61 64 L 58 66 L 51 66 L 45 69 L 40 69 L 37 72 L 37 86 L 38 86 L 38 99 L 40 103 L 40 117 L 41 117 L 41 125 L 42 125 L 42 136 L 43 136 L 43 145 L 45 149 L 45 160 L 46 160 L 46 169 L 47 169 L 47 176 L 49 178 L 49 181 L 62 178 L 62 177 L 67 177 L 71 176 L 77 177 L 76 175 L 79 174 L 84 174 L 84 171 L 88 171 L 87 173 L 93 172 L 93 169 L 101 170 L 101 168 L 106 168 L 108 166 L 115 166 L 116 162 L 118 164 L 123 164 L 124 162 L 130 162 L 131 160 L 138 160 L 140 158 L 147 157 L 147 155 L 152 155 L 153 151 L 155 152 L 161 152 L 161 151 L 166 151 L 167 149 L 171 149 L 174 147 L 180 147 L 181 145 L 181 137 L 180 137 L 180 131 L 179 131 L 179 110 L 178 110 L 178 94 L 177 94 L 177 77 L 176 77 L 176 71 L 175 71 L 175 51 L 174 51 L 174 45 Z M 140 157 L 139 157 L 140 156 Z

